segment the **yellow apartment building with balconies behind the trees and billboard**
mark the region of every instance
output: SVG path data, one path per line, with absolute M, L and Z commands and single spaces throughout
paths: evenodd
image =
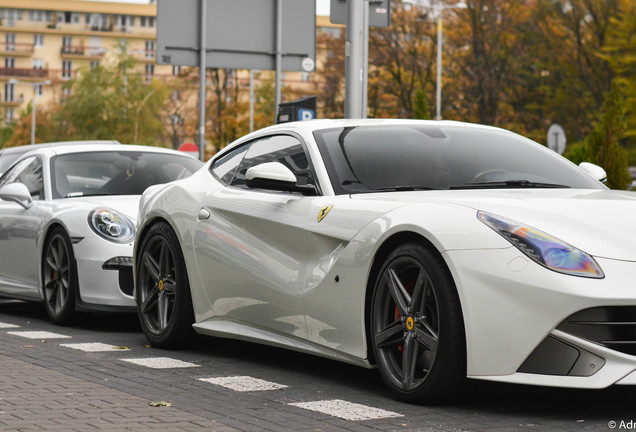
M 80 0 L 2 0 L 0 3 L 0 122 L 19 117 L 33 98 L 45 104 L 81 70 L 108 62 L 125 44 L 147 80 L 170 78 L 178 66 L 156 63 L 157 5 Z M 317 17 L 319 31 L 338 32 L 329 17 Z M 317 62 L 321 50 L 318 47 Z M 240 87 L 249 71 L 237 71 Z M 315 73 L 287 72 L 283 83 L 319 85 Z

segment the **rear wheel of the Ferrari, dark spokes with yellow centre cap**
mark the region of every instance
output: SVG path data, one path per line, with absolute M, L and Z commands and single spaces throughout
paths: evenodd
M 136 263 L 136 301 L 146 338 L 157 348 L 189 343 L 194 311 L 185 260 L 176 234 L 158 222 L 143 239 Z

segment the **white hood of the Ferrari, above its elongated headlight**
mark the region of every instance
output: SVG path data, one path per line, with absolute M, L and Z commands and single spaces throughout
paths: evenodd
M 397 201 L 407 206 L 435 202 L 487 211 L 531 225 L 596 257 L 636 261 L 636 192 L 455 190 L 367 194 L 353 198 Z

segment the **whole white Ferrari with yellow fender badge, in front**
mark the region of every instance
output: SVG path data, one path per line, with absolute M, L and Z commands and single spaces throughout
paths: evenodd
M 493 127 L 272 126 L 144 193 L 140 322 L 377 366 L 407 401 L 636 384 L 636 194 L 604 176 Z

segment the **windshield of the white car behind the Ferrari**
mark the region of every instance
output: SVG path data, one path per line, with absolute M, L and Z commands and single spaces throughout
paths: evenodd
M 202 163 L 187 155 L 140 151 L 69 153 L 51 159 L 53 198 L 141 195 L 149 186 L 190 176 Z

